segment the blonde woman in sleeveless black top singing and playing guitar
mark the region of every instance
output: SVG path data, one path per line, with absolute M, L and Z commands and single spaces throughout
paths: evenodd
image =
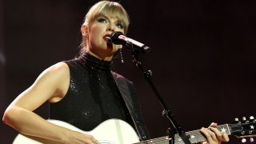
M 49 101 L 50 118 L 69 122 L 81 130 L 93 130 L 107 119 L 118 118 L 130 123 L 140 140 L 150 138 L 132 82 L 110 71 L 112 57 L 122 46 L 109 42 L 108 37 L 114 31 L 126 34 L 128 26 L 128 14 L 119 3 L 102 1 L 92 6 L 81 27 L 81 56 L 44 70 L 8 106 L 3 122 L 30 138 L 98 143 L 90 134 L 54 125 L 33 112 Z M 213 131 L 202 133 L 210 143 L 222 141 L 222 134 L 217 129 Z

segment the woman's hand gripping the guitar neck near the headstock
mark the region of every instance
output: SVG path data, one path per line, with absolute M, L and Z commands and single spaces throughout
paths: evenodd
M 206 136 L 207 142 L 201 142 L 202 144 L 220 144 L 221 142 L 229 142 L 230 138 L 226 133 L 221 133 L 217 129 L 217 123 L 211 123 L 210 124 L 210 130 L 202 127 L 200 130 L 202 134 Z

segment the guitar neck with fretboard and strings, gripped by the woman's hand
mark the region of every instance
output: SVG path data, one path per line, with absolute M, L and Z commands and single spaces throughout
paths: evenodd
M 222 133 L 226 133 L 226 134 L 230 135 L 230 129 L 229 129 L 228 124 L 218 126 L 218 130 L 220 130 Z M 186 135 L 188 135 L 191 143 L 206 141 L 206 138 L 200 132 L 200 130 L 193 130 L 193 131 L 186 132 Z M 169 138 L 168 138 L 168 136 L 161 137 L 161 138 L 154 138 L 154 139 L 150 139 L 147 141 L 138 142 L 136 144 L 143 144 L 143 143 L 168 144 Z M 175 144 L 185 144 L 185 142 L 182 141 L 182 138 L 178 134 L 175 134 L 174 143 Z

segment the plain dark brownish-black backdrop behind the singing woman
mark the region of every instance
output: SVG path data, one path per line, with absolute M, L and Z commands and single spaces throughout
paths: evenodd
M 86 0 L 0 1 L 0 110 L 47 67 L 78 54 Z M 130 38 L 153 48 L 141 55 L 152 81 L 183 130 L 255 115 L 256 2 L 119 1 L 130 14 Z M 124 50 L 114 70 L 134 82 L 152 138 L 166 135 L 166 118 Z M 48 105 L 36 112 L 48 117 Z M 32 119 L 31 119 L 32 120 Z M 18 134 L 1 122 L 1 143 Z M 230 143 L 241 141 L 230 136 Z

